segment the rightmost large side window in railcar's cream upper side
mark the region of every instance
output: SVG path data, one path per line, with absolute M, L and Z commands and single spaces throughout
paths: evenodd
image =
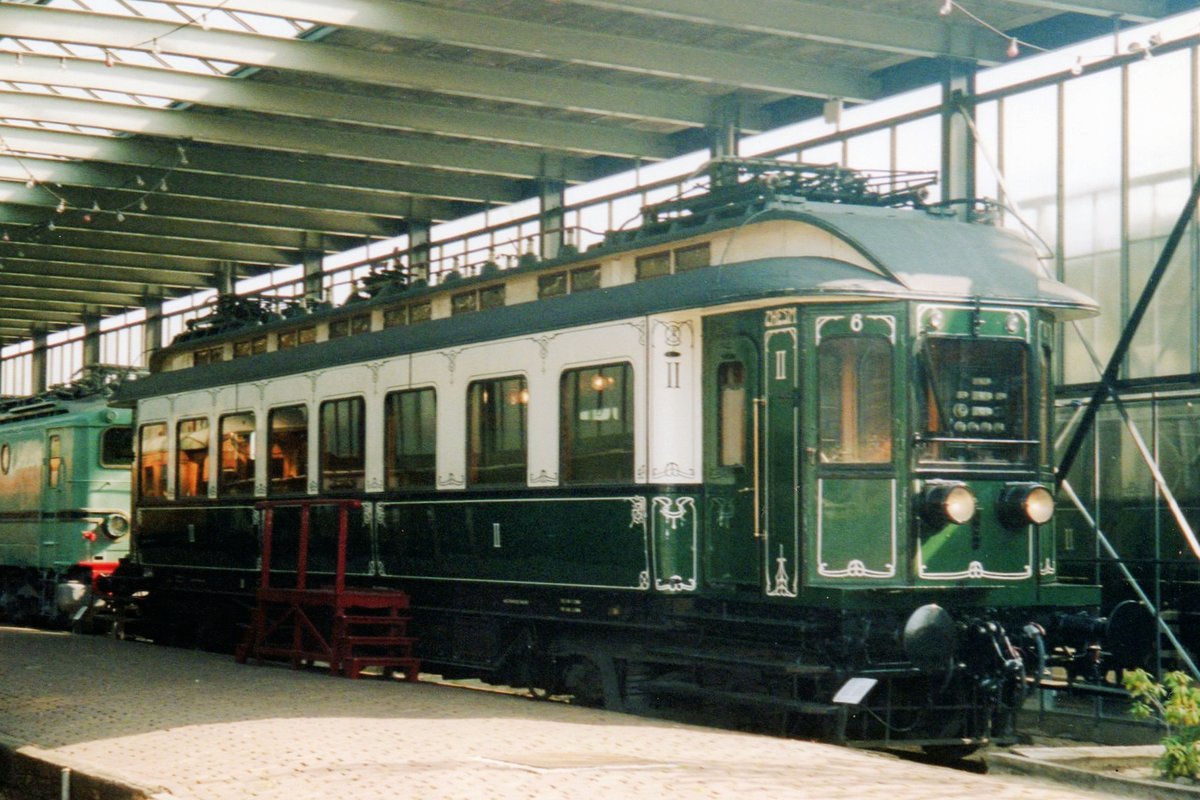
M 564 483 L 634 480 L 634 369 L 569 369 L 559 384 L 559 470 Z

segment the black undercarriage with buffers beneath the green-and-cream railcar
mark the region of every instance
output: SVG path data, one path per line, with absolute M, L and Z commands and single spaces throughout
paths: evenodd
M 253 578 L 115 576 L 122 630 L 232 651 Z M 762 602 L 406 582 L 425 673 L 594 708 L 862 746 L 961 756 L 1016 740 L 1015 717 L 1060 667 L 1120 668 L 1109 620 L 1052 609 L 830 610 Z M 497 610 L 499 609 L 499 610 Z M 1135 627 L 1136 614 L 1122 618 Z M 318 621 L 318 625 L 320 622 Z M 1120 654 L 1128 660 L 1128 654 Z M 1132 664 L 1130 664 L 1132 666 Z

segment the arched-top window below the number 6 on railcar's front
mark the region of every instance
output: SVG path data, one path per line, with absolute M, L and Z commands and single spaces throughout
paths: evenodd
M 824 463 L 892 461 L 892 343 L 830 337 L 817 349 L 820 457 Z

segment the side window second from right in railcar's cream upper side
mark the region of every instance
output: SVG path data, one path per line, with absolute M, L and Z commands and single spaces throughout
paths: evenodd
M 467 389 L 467 481 L 524 483 L 529 389 L 524 377 L 476 380 Z

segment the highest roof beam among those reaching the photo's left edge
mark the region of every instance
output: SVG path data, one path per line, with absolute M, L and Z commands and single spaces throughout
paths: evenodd
M 278 4 L 272 4 L 278 16 Z M 258 34 L 197 30 L 163 20 L 70 11 L 53 6 L 0 4 L 0 30 L 8 36 L 73 42 L 101 48 L 127 47 L 160 38 L 166 53 L 241 64 L 247 67 L 307 72 L 342 80 L 419 89 L 482 100 L 550 108 L 566 107 L 632 119 L 708 125 L 714 101 L 682 92 L 655 91 L 546 74 L 499 72 L 451 61 L 391 53 L 364 53 L 319 42 Z M 559 35 L 560 35 L 559 29 Z

